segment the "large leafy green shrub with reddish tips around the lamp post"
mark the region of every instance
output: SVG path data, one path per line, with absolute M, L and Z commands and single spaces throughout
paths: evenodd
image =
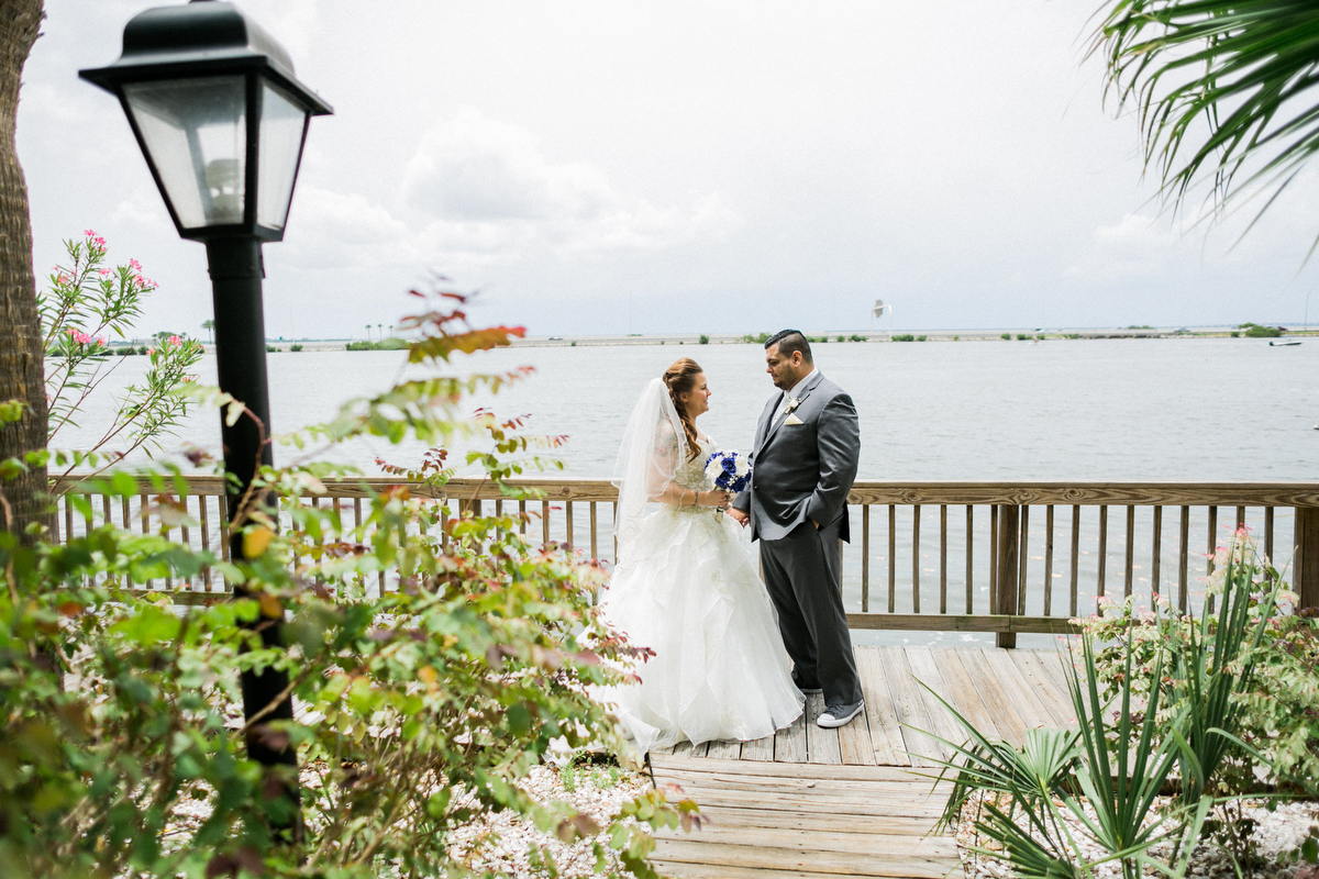
M 485 410 L 470 418 L 460 403 L 522 373 L 441 370 L 521 329 L 471 329 L 447 310 L 462 299 L 434 302 L 409 319 L 419 336 L 409 357 L 435 373 L 353 401 L 295 441 L 484 436 L 492 451 L 471 460 L 505 497 L 525 497 L 505 480 L 538 465 L 536 438 Z M 417 469 L 386 472 L 437 489 L 451 474 L 445 457 L 434 449 Z M 674 808 L 650 791 L 601 829 L 517 784 L 555 743 L 623 747 L 587 695 L 620 681 L 615 669 L 638 654 L 592 602 L 599 568 L 524 539 L 524 515 L 459 514 L 430 492 L 365 489 L 360 522 L 298 499 L 344 473 L 324 463 L 264 468 L 233 523 L 245 548 L 237 563 L 169 539 L 199 525 L 177 472 L 152 488 L 162 534 L 100 525 L 62 546 L 20 546 L 0 532 L 0 874 L 456 876 L 467 871 L 452 832 L 513 810 L 562 841 L 594 838 L 603 868 L 652 875 L 644 828 L 687 825 L 694 804 Z M 127 473 L 90 488 L 140 492 Z M 266 489 L 278 511 L 257 502 Z M 86 499 L 70 497 L 91 521 Z M 207 567 L 247 596 L 175 613 L 168 594 L 128 590 L 152 579 L 186 584 Z M 381 572 L 397 572 L 396 590 L 376 593 Z M 259 621 L 277 627 L 272 644 L 251 627 Z M 239 668 L 269 667 L 288 669 L 306 712 L 233 731 Z M 295 749 L 301 778 L 251 760 L 244 735 Z M 282 792 L 299 780 L 302 832 L 277 837 L 272 828 L 294 817 Z M 198 807 L 204 814 L 190 817 Z M 533 870 L 557 875 L 546 850 Z

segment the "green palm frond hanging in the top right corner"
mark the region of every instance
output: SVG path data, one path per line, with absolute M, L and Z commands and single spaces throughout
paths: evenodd
M 1219 208 L 1265 195 L 1258 220 L 1319 152 L 1319 4 L 1117 0 L 1097 14 L 1088 54 L 1107 63 L 1105 99 L 1134 107 L 1162 194 L 1182 206 L 1210 177 Z

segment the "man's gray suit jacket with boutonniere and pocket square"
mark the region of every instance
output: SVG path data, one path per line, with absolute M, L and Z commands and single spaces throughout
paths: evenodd
M 852 398 L 816 372 L 797 407 L 776 418 L 783 399 L 774 394 L 760 415 L 751 485 L 733 506 L 751 515 L 753 540 L 781 540 L 807 519 L 822 528 L 839 522 L 848 540 L 847 493 L 861 456 Z

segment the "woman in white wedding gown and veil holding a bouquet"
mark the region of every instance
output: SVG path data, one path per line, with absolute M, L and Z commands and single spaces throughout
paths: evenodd
M 706 476 L 718 451 L 696 427 L 710 386 L 689 358 L 646 385 L 615 467 L 619 561 L 603 610 L 654 656 L 640 683 L 607 688 L 641 752 L 682 741 L 756 739 L 791 723 L 793 685 L 769 594 Z

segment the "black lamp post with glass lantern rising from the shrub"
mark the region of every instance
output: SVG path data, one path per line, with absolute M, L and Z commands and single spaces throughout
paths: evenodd
M 330 105 L 293 75 L 289 54 L 231 3 L 191 0 L 148 9 L 124 28 L 124 51 L 108 67 L 79 76 L 119 98 L 178 233 L 203 241 L 215 300 L 220 390 L 243 401 L 270 428 L 261 310 L 261 244 L 284 237 L 293 186 L 311 116 Z M 260 427 L 223 419 L 224 469 L 248 490 L 259 463 L 272 464 Z M 231 492 L 233 489 L 231 488 Z M 239 505 L 231 494 L 230 517 Z M 241 535 L 230 544 L 243 557 Z M 266 621 L 266 644 L 278 643 Z M 268 669 L 243 676 L 243 708 L 252 717 L 288 687 Z M 285 698 L 268 720 L 291 720 Z M 266 764 L 295 764 L 291 749 L 248 738 Z

